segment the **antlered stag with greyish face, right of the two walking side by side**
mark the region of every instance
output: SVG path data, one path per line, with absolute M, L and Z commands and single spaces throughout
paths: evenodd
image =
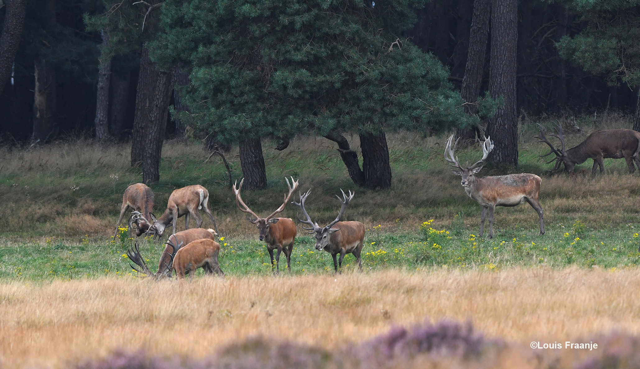
M 344 259 L 345 254 L 349 253 L 355 256 L 358 268 L 362 270 L 362 258 L 360 258 L 360 254 L 362 253 L 362 245 L 364 245 L 364 224 L 360 222 L 339 222 L 349 201 L 351 201 L 353 195 L 355 195 L 355 193 L 351 193 L 351 190 L 349 190 L 348 197 L 344 191 L 340 190 L 340 192 L 342 192 L 342 200 L 337 196 L 342 204 L 342 206 L 340 206 L 340 212 L 333 222 L 323 228 L 313 222 L 307 214 L 307 210 L 305 210 L 305 200 L 307 200 L 311 190 L 308 190 L 307 193 L 300 196 L 300 202 L 293 201 L 293 203 L 298 205 L 303 215 L 307 217 L 307 220 L 301 220 L 300 218 L 298 218 L 298 220 L 300 220 L 301 223 L 311 225 L 311 228 L 305 229 L 311 231 L 309 232 L 310 234 L 316 234 L 316 250 L 325 250 L 333 257 L 335 272 L 338 272 L 338 267 L 340 267 L 340 272 L 342 272 L 342 259 Z M 334 225 L 335 228 L 332 228 Z M 340 259 L 336 260 L 338 254 L 340 254 Z

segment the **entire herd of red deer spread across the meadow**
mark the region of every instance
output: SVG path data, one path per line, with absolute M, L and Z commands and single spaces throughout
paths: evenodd
M 638 157 L 640 133 L 631 129 L 595 131 L 584 142 L 568 150 L 564 148 L 564 135 L 560 124 L 557 124 L 556 133 L 550 136 L 560 140 L 561 149 L 557 149 L 547 140 L 542 126 L 540 126 L 540 135 L 535 138 L 538 139 L 536 142 L 546 143 L 551 148 L 551 151 L 548 154 L 541 155 L 542 157 L 552 153 L 556 154 L 554 160 L 548 161 L 548 163 L 556 161 L 553 171 L 558 170 L 564 164 L 564 168 L 573 173 L 575 165 L 584 163 L 588 158 L 593 159 L 592 174 L 595 173 L 598 167 L 600 167 L 600 172 L 604 172 L 604 158 L 625 158 L 630 173 L 635 172 L 634 161 L 640 169 L 640 159 Z M 528 202 L 538 213 L 540 217 L 540 234 L 545 234 L 543 209 L 538 200 L 538 197 L 540 197 L 540 177 L 528 173 L 476 177 L 474 175 L 483 168 L 478 167 L 478 165 L 486 160 L 493 149 L 492 141 L 490 138 L 485 138 L 482 143 L 483 157 L 481 160 L 470 167 L 463 168 L 454 154 L 460 139 L 453 143 L 453 138 L 454 136 L 452 135 L 447 140 L 445 160 L 451 163 L 452 167 L 455 167 L 452 172 L 462 177 L 461 184 L 467 195 L 482 206 L 479 236 L 484 234 L 484 220 L 487 213 L 489 213 L 488 237 L 493 238 L 493 214 L 496 206 L 517 206 L 524 202 Z M 276 214 L 284 210 L 287 202 L 291 199 L 291 195 L 298 188 L 298 182 L 294 181 L 293 177 L 291 177 L 291 184 L 289 179 L 285 178 L 285 180 L 287 181 L 287 187 L 289 187 L 289 193 L 285 195 L 282 205 L 266 218 L 260 218 L 244 203 L 240 195 L 244 179 L 240 181 L 239 186 L 236 187 L 237 182 L 233 186 L 236 204 L 241 211 L 252 215 L 253 218 L 248 218 L 248 220 L 257 226 L 259 231 L 258 239 L 266 243 L 271 258 L 271 268 L 275 268 L 275 273 L 280 272 L 280 254 L 283 251 L 287 258 L 287 268 L 291 271 L 291 253 L 297 233 L 296 225 L 290 218 L 274 218 Z M 292 203 L 296 204 L 307 218 L 307 220 L 301 220 L 300 218 L 298 220 L 300 223 L 310 226 L 308 228 L 303 227 L 303 229 L 309 231 L 309 234 L 315 235 L 316 249 L 325 250 L 332 255 L 335 272 L 338 272 L 339 268 L 342 267 L 342 260 L 346 254 L 353 254 L 358 267 L 362 270 L 360 254 L 364 245 L 365 227 L 361 222 L 340 222 L 340 217 L 344 214 L 349 201 L 353 199 L 354 195 L 351 191 L 349 191 L 349 195 L 346 195 L 342 190 L 340 191 L 342 192 L 342 199 L 338 197 L 341 204 L 338 216 L 325 227 L 320 227 L 314 222 L 305 210 L 305 201 L 311 190 L 308 190 L 304 195 L 300 194 L 298 202 L 293 201 Z M 132 265 L 134 270 L 154 279 L 171 277 L 173 270 L 182 279 L 185 275 L 193 274 L 197 268 L 203 268 L 206 274 L 216 272 L 218 275 L 224 275 L 218 263 L 220 244 L 215 241 L 218 227 L 211 209 L 209 209 L 209 192 L 206 188 L 196 184 L 174 190 L 169 197 L 167 208 L 160 218 L 156 219 L 152 213 L 153 207 L 154 193 L 145 184 L 132 184 L 125 190 L 122 208 L 120 209 L 120 218 L 116 225 L 116 234 L 118 233 L 117 228 L 128 208 L 133 209 L 129 217 L 129 228 L 136 231 L 136 236 L 150 234 L 162 237 L 166 228 L 173 226 L 173 232 L 168 238 L 166 247 L 160 257 L 157 272 L 155 274 L 150 272 L 145 259 L 140 255 L 137 243 L 133 249 L 127 251 L 129 259 L 137 265 Z M 214 229 L 200 228 L 202 226 L 202 218 L 198 215 L 199 209 L 204 209 L 211 219 Z M 183 215 L 186 216 L 186 230 L 176 233 L 177 219 Z M 196 228 L 189 229 L 190 217 L 195 218 Z M 114 234 L 114 237 L 116 234 Z M 273 256 L 274 250 L 277 250 L 275 259 Z M 339 259 L 337 258 L 338 255 L 340 255 Z

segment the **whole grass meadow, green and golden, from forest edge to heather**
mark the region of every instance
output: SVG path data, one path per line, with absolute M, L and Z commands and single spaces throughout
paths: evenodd
M 568 147 L 586 138 L 571 131 L 574 123 L 586 132 L 630 126 L 618 113 L 557 119 Z M 529 342 L 640 331 L 640 174 L 611 159 L 605 175 L 590 175 L 591 160 L 575 176 L 550 174 L 552 164 L 539 157 L 546 146 L 532 140 L 537 122 L 551 126 L 547 118 L 520 122 L 520 167 L 488 165 L 481 175 L 541 176 L 547 233 L 538 234 L 536 212 L 522 204 L 497 208 L 492 240 L 478 236 L 481 208 L 444 161 L 445 136 L 388 133 L 393 181 L 381 191 L 356 188 L 335 143 L 324 138 L 299 136 L 284 151 L 265 140 L 268 188 L 244 192 L 244 201 L 258 214 L 271 213 L 286 192 L 284 177 L 293 176 L 301 191 L 312 188 L 307 211 L 323 225 L 337 215 L 340 188 L 355 190 L 344 218 L 367 229 L 363 274 L 348 255 L 343 274 L 334 275 L 331 256 L 317 252 L 298 225 L 291 273 L 283 256 L 273 277 L 220 158 L 207 160 L 193 138 L 170 140 L 161 181 L 152 186 L 155 213 L 175 188 L 205 186 L 227 275 L 200 272 L 184 283 L 136 278 L 124 256 L 129 233 L 112 237 L 122 193 L 141 180 L 140 168 L 129 166 L 128 144 L 77 138 L 8 145 L 0 150 L 0 366 L 63 368 L 118 348 L 205 357 L 255 335 L 335 351 L 392 325 L 450 318 L 470 319 L 508 343 L 501 358 L 482 367 L 572 367 L 582 354 L 540 356 Z M 348 139 L 360 152 L 357 136 Z M 474 145 L 458 154 L 475 162 L 481 150 Z M 240 179 L 237 147 L 227 159 L 232 179 Z M 298 215 L 292 204 L 282 213 Z M 184 218 L 177 224 L 184 229 Z M 163 244 L 137 241 L 155 271 Z

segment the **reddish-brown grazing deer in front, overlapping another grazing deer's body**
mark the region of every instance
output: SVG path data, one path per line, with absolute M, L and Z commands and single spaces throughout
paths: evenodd
M 205 238 L 195 240 L 185 247 L 182 247 L 173 258 L 173 269 L 179 279 L 184 279 L 184 275 L 195 274 L 197 268 L 203 268 L 205 274 L 216 274 L 224 277 L 224 272 L 218 263 L 218 253 L 220 244 L 214 240 Z

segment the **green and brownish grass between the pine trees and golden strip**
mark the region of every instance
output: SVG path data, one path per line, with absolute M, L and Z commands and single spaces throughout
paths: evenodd
M 568 121 L 572 117 L 561 119 Z M 585 130 L 630 124 L 628 117 L 615 114 L 596 122 L 591 117 L 576 121 Z M 381 191 L 356 188 L 335 144 L 324 138 L 298 137 L 282 152 L 271 148 L 273 145 L 267 140 L 263 149 L 268 188 L 244 192 L 243 198 L 257 213 L 270 213 L 281 204 L 286 191 L 283 177 L 293 176 L 300 180 L 301 191 L 312 188 L 307 210 L 319 224 L 326 224 L 339 209 L 334 195 L 340 188 L 355 189 L 356 197 L 344 220 L 358 220 L 367 227 L 365 270 L 415 270 L 443 265 L 490 269 L 541 264 L 553 268 L 636 265 L 640 256 L 637 236 L 634 237 L 640 214 L 638 174 L 628 175 L 623 160 L 605 160 L 605 176 L 549 174 L 547 170 L 552 165 L 538 156 L 547 149 L 532 140 L 537 134 L 536 122 L 525 120 L 520 125 L 520 167 L 488 165 L 481 175 L 530 172 L 541 176 L 541 204 L 547 225 L 544 236 L 538 235 L 538 217 L 527 204 L 497 209 L 493 240 L 471 236 L 479 230 L 481 208 L 467 197 L 459 177 L 451 174 L 445 163 L 444 136 L 388 134 L 393 180 L 390 188 Z M 541 122 L 550 126 L 548 120 Z M 565 136 L 568 147 L 586 138 L 569 132 Z M 356 137 L 348 136 L 353 149 L 359 152 Z M 460 149 L 457 154 L 463 163 L 476 161 L 481 152 L 476 145 Z M 163 212 L 175 188 L 204 185 L 211 193 L 210 205 L 220 236 L 225 237 L 221 242 L 221 268 L 227 274 L 271 273 L 268 252 L 264 243 L 257 241 L 255 227 L 236 208 L 221 160 L 214 156 L 205 161 L 207 156 L 202 144 L 195 140 L 165 143 L 161 181 L 152 186 L 156 215 Z M 237 148 L 227 158 L 233 179 L 241 178 Z M 122 256 L 129 247 L 128 241 L 111 239 L 122 193 L 141 179 L 140 168 L 129 167 L 128 145 L 79 140 L 5 148 L 0 152 L 0 163 L 1 279 L 74 279 L 131 272 Z M 591 164 L 588 160 L 577 169 L 590 172 Z M 291 204 L 282 213 L 293 219 L 298 215 L 298 209 Z M 435 222 L 430 227 L 449 234 L 425 234 L 420 224 L 431 219 Z M 577 221 L 584 224 L 582 231 L 574 229 Z M 180 218 L 179 231 L 184 229 L 183 222 L 184 218 Z M 210 226 L 205 219 L 204 227 Z M 159 242 L 142 242 L 152 270 L 162 249 Z M 344 270 L 355 268 L 354 262 L 353 256 L 346 256 Z M 283 256 L 282 270 L 284 265 Z M 292 272 L 332 270 L 331 256 L 317 252 L 312 239 L 300 231 Z

